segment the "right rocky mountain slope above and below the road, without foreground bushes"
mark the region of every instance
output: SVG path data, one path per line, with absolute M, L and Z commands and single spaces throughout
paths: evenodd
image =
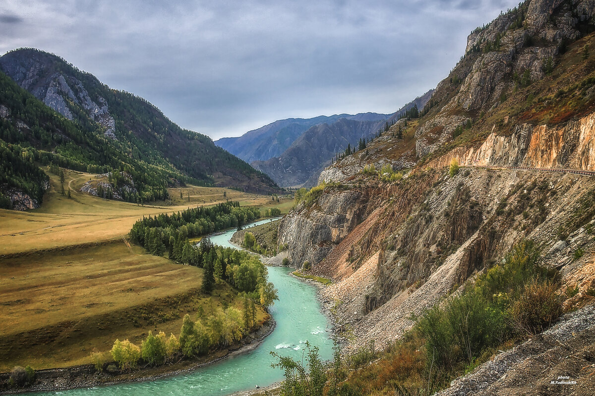
M 594 169 L 594 15 L 533 0 L 475 30 L 419 118 L 325 169 L 281 221 L 292 265 L 336 280 L 323 293 L 351 347 L 389 345 L 521 239 L 577 298 L 595 287 L 595 177 L 547 171 Z

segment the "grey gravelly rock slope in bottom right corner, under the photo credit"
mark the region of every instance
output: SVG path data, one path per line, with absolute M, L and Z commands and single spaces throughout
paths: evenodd
M 498 354 L 436 395 L 589 395 L 595 389 L 590 364 L 594 327 L 594 306 L 569 313 L 550 330 Z

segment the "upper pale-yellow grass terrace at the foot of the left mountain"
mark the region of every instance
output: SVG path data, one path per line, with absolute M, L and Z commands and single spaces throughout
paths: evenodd
M 127 235 L 134 222 L 143 216 L 217 204 L 226 199 L 262 208 L 277 206 L 284 211 L 290 201 L 282 198 L 281 202 L 276 202 L 270 196 L 227 188 L 189 186 L 171 189 L 172 201 L 143 206 L 83 194 L 79 192 L 80 187 L 96 175 L 65 170 L 64 188 L 71 191 L 71 199 L 68 199 L 60 194 L 58 177 L 48 174 L 52 186 L 45 194 L 42 207 L 26 212 L 0 210 L 0 255 L 117 239 Z M 180 191 L 186 198 L 180 199 Z M 227 197 L 223 197 L 224 191 Z

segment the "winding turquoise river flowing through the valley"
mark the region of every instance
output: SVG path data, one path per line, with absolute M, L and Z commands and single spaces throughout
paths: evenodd
M 262 224 L 270 220 L 261 220 Z M 255 225 L 250 224 L 250 225 Z M 213 243 L 230 243 L 234 230 L 211 236 Z M 277 287 L 279 300 L 270 312 L 277 322 L 275 330 L 256 349 L 239 356 L 222 359 L 191 372 L 154 381 L 129 382 L 105 387 L 79 388 L 69 391 L 36 392 L 35 395 L 107 396 L 107 395 L 196 395 L 223 396 L 238 391 L 265 387 L 283 379 L 280 369 L 271 368 L 276 362 L 275 351 L 294 359 L 302 359 L 305 342 L 320 348 L 323 359 L 332 356 L 330 325 L 322 315 L 314 286 L 292 277 L 289 268 L 268 267 L 268 279 Z M 32 394 L 33 395 L 33 394 Z

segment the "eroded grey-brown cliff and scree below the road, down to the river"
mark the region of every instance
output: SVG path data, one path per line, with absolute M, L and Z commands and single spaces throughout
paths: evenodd
M 284 218 L 279 232 L 293 266 L 308 260 L 314 274 L 336 281 L 322 296 L 356 336 L 352 347 L 371 339 L 386 346 L 412 325 L 412 313 L 439 302 L 522 238 L 551 251 L 549 264 L 567 277 L 585 268 L 568 258 L 593 236 L 568 235 L 594 214 L 595 178 L 490 169 L 450 178 L 445 169 L 428 168 L 392 185 L 367 182 L 353 191 L 325 190 L 314 207 Z

